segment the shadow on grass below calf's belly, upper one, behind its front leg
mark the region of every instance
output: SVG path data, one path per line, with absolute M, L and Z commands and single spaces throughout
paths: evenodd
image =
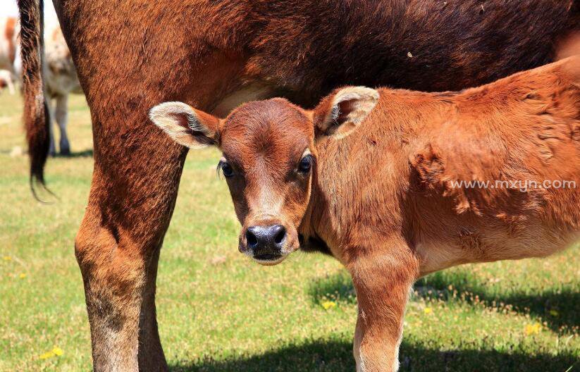
M 449 290 L 449 286 L 452 290 Z M 514 290 L 498 293 L 493 285 L 486 285 L 462 271 L 440 271 L 422 278 L 415 284 L 419 297 L 444 301 L 479 302 L 488 308 L 507 309 L 521 314 L 540 316 L 551 330 L 560 332 L 580 327 L 580 293 L 571 287 L 553 288 L 530 293 Z M 497 288 L 497 287 L 495 287 Z M 331 300 L 355 304 L 352 281 L 347 272 L 328 275 L 314 281 L 309 287 L 314 304 Z

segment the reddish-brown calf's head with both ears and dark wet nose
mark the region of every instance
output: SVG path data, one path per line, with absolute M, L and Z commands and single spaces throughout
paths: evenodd
M 316 171 L 316 142 L 345 137 L 368 115 L 378 92 L 338 89 L 313 111 L 285 99 L 243 104 L 219 119 L 181 102 L 166 102 L 149 113 L 175 142 L 190 148 L 214 145 L 242 224 L 240 252 L 274 265 L 300 247 L 300 225 Z

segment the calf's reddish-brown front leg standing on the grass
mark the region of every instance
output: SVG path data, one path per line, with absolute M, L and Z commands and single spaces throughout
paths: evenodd
M 396 372 L 417 259 L 407 244 L 397 241 L 386 253 L 377 249 L 357 257 L 349 268 L 359 306 L 353 348 L 357 372 Z

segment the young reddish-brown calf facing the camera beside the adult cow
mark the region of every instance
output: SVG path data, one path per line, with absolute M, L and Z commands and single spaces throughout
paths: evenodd
M 150 117 L 223 151 L 240 252 L 273 265 L 323 242 L 346 266 L 357 371 L 397 370 L 417 278 L 580 235 L 579 57 L 462 92 L 346 87 L 313 111 L 270 99 L 220 120 L 168 102 Z

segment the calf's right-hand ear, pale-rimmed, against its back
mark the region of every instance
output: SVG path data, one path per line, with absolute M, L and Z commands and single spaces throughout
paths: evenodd
M 346 137 L 369 115 L 378 101 L 378 92 L 367 87 L 338 89 L 314 109 L 316 137 Z

